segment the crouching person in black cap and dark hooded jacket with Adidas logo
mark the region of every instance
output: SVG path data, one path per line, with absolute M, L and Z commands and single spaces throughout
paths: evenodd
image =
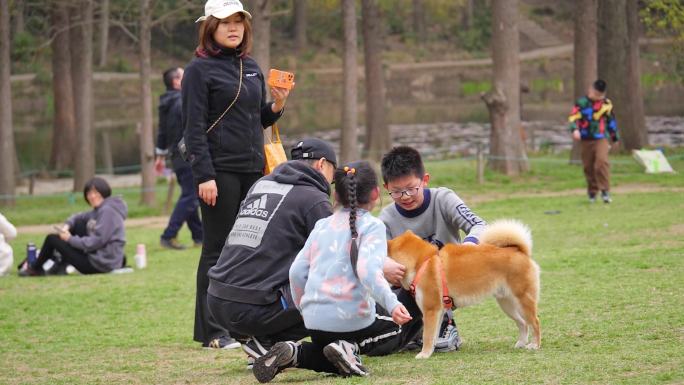
M 245 342 L 242 348 L 252 359 L 271 343 L 309 335 L 292 302 L 289 269 L 316 222 L 332 214 L 337 160 L 332 147 L 318 139 L 299 142 L 292 159 L 249 190 L 208 274 L 211 314 Z

